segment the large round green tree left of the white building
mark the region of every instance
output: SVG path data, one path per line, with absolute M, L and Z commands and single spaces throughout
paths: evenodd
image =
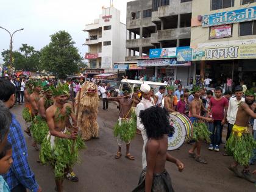
M 60 79 L 65 79 L 67 74 L 78 71 L 81 61 L 78 49 L 71 35 L 65 30 L 50 36 L 51 42 L 41 49 L 40 62 L 46 71 L 52 72 Z

